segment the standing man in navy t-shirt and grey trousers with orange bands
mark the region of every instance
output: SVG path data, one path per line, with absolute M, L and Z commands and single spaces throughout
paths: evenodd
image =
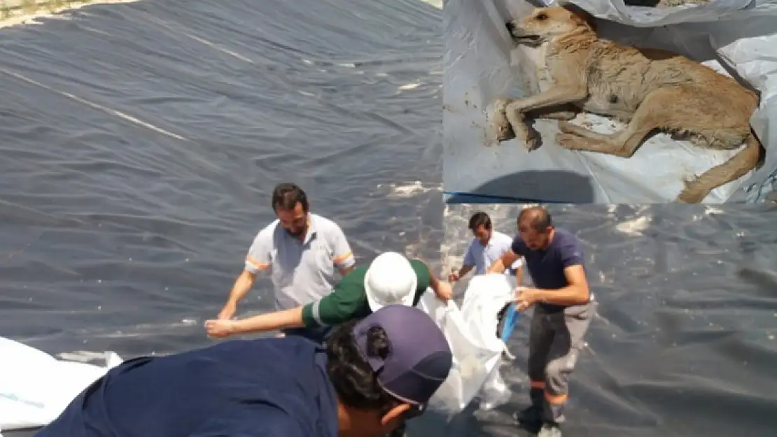
M 518 415 L 526 425 L 542 425 L 538 437 L 560 437 L 569 376 L 595 312 L 585 276 L 580 241 L 553 227 L 550 213 L 541 206 L 518 215 L 513 245 L 491 265 L 489 273 L 502 273 L 524 257 L 534 287 L 518 287 L 518 310 L 535 307 L 529 332 L 528 374 L 531 406 Z

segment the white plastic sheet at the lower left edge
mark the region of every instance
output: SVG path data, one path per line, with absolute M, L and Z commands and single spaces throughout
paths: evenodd
M 53 421 L 89 384 L 122 362 L 113 352 L 105 352 L 105 359 L 106 366 L 62 361 L 0 337 L 0 432 Z

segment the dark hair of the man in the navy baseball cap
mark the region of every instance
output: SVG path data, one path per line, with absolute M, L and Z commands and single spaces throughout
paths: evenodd
M 388 412 L 398 401 L 382 389 L 369 363 L 362 357 L 354 340 L 357 320 L 341 324 L 326 340 L 326 371 L 340 402 L 358 410 Z M 389 355 L 389 338 L 383 328 L 368 331 L 369 356 Z

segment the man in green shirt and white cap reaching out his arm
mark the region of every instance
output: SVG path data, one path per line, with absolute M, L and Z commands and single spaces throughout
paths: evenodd
M 389 251 L 378 255 L 369 266 L 348 273 L 333 293 L 320 300 L 236 321 L 209 320 L 205 329 L 208 335 L 218 338 L 277 329 L 310 331 L 366 317 L 386 305 L 414 307 L 428 288 L 441 300 L 451 298 L 451 285 L 437 279 L 428 265 Z

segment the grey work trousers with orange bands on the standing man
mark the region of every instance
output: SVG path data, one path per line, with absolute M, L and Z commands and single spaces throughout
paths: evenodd
M 529 331 L 528 374 L 531 404 L 542 408 L 543 421 L 564 421 L 570 374 L 575 368 L 597 303 L 548 310 L 537 305 Z

